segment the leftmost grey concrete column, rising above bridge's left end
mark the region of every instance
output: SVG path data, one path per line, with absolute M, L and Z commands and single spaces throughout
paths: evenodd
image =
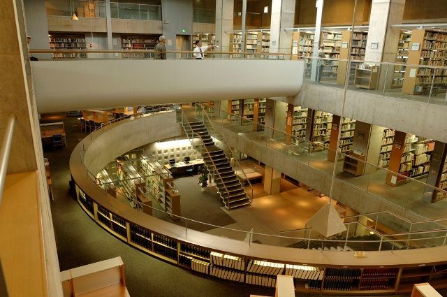
M 48 22 L 45 10 L 45 0 L 23 0 L 27 35 L 32 40 L 29 48 L 34 50 L 49 50 Z M 50 54 L 34 54 L 38 59 L 50 59 Z

